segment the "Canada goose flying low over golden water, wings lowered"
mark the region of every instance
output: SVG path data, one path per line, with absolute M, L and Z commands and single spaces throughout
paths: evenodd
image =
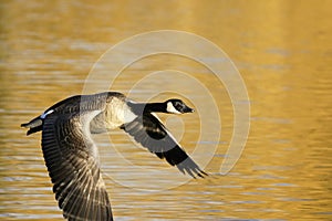
M 117 92 L 76 95 L 63 99 L 22 127 L 27 135 L 42 130 L 42 150 L 53 192 L 69 220 L 113 220 L 91 134 L 121 128 L 143 147 L 180 171 L 205 173 L 153 114 L 191 113 L 180 99 L 135 103 Z

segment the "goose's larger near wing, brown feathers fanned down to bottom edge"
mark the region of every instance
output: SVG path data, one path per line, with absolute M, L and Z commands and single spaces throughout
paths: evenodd
M 90 120 L 100 110 L 50 114 L 43 123 L 42 149 L 53 192 L 69 220 L 113 220 L 101 177 Z

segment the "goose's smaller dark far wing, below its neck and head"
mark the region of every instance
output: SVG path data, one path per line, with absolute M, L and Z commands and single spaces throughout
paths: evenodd
M 153 114 L 144 114 L 121 128 L 151 152 L 156 154 L 160 159 L 165 158 L 169 165 L 176 166 L 181 172 L 187 172 L 194 178 L 207 175 Z

